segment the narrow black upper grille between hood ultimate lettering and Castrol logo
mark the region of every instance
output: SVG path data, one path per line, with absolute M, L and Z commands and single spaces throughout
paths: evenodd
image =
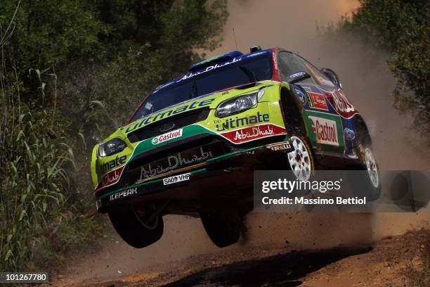
M 192 125 L 195 122 L 206 120 L 209 115 L 209 112 L 209 108 L 200 108 L 197 110 L 190 110 L 186 113 L 174 115 L 172 117 L 167 117 L 164 120 L 159 120 L 158 122 L 131 132 L 128 135 L 129 141 L 131 141 L 132 143 L 136 143 L 138 141 L 143 141 L 144 139 L 149 139 L 153 136 L 159 136 L 160 134 L 164 134 L 166 132 L 160 132 L 160 129 L 162 129 L 162 126 L 166 125 L 167 123 L 174 124 L 174 127 L 172 127 L 173 130 Z

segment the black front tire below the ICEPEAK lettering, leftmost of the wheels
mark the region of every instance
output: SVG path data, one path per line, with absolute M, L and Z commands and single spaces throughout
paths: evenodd
M 119 236 L 134 248 L 151 245 L 163 235 L 164 224 L 161 215 L 158 216 L 157 225 L 150 229 L 141 223 L 131 205 L 110 211 L 109 218 Z

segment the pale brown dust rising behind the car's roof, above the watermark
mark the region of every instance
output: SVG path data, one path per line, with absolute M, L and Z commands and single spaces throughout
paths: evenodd
M 388 55 L 353 38 L 318 36 L 317 26 L 335 25 L 358 6 L 357 0 L 230 1 L 224 42 L 208 56 L 235 50 L 237 42 L 244 53 L 254 45 L 282 47 L 318 68 L 332 68 L 369 125 L 380 168 L 428 170 L 430 158 L 410 128 L 412 118 L 399 115 L 393 107 L 391 91 L 396 82 L 386 64 Z

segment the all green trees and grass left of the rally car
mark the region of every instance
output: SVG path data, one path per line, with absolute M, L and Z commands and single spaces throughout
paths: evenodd
M 97 243 L 91 147 L 216 48 L 227 16 L 226 0 L 1 2 L 0 270 Z

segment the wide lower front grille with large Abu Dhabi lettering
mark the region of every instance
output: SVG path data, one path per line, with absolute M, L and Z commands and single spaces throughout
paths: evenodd
M 129 182 L 151 179 L 159 174 L 167 174 L 176 170 L 199 165 L 226 153 L 225 144 L 221 141 L 211 141 L 209 144 L 187 148 L 185 150 L 171 152 L 169 155 L 157 160 L 132 162 L 131 169 L 127 172 Z

